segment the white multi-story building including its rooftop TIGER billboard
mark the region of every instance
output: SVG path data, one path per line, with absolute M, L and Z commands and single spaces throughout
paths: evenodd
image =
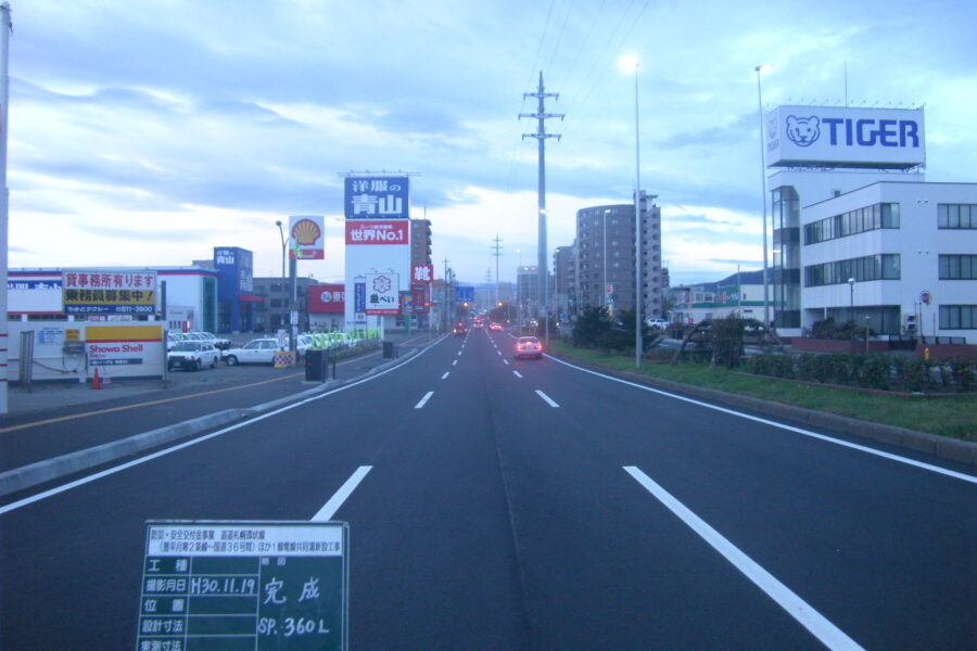
M 781 334 L 834 318 L 974 343 L 977 183 L 925 181 L 923 110 L 779 106 L 765 128 Z

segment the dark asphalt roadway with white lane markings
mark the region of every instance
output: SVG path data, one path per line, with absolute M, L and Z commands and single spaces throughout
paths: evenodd
M 135 648 L 147 520 L 317 515 L 350 523 L 354 649 L 974 648 L 970 469 L 510 349 L 7 503 L 0 648 Z

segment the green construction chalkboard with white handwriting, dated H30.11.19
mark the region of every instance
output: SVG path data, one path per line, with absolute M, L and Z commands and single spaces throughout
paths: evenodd
M 343 651 L 341 522 L 147 523 L 137 651 Z

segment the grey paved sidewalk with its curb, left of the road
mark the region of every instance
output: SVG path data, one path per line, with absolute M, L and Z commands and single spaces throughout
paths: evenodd
M 392 334 L 388 341 L 399 357 L 411 357 L 437 340 L 421 333 Z M 339 361 L 337 380 L 328 383 L 306 382 L 304 363 L 218 365 L 174 372 L 165 386 L 154 380 L 102 390 L 75 383 L 33 392 L 11 387 L 11 412 L 0 417 L 0 495 L 227 425 L 396 363 L 383 358 L 381 348 Z

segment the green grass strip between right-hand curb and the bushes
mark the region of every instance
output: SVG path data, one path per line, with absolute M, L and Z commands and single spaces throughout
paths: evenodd
M 635 372 L 634 357 L 605 355 L 597 350 L 574 348 L 554 341 L 553 353 L 568 359 Z M 941 436 L 977 441 L 977 396 L 924 399 L 918 397 L 864 394 L 847 388 L 802 384 L 790 380 L 745 375 L 725 368 L 710 370 L 701 363 L 645 361 L 637 371 L 649 378 L 670 380 L 693 386 L 716 388 L 764 400 L 838 413 L 859 420 L 931 432 Z

